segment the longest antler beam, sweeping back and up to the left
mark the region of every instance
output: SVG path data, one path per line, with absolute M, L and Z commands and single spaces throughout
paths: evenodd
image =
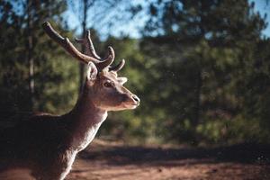
M 58 44 L 66 49 L 67 52 L 74 58 L 77 58 L 84 63 L 92 61 L 94 64 L 98 64 L 100 62 L 98 59 L 86 56 L 85 54 L 78 51 L 67 38 L 63 38 L 60 34 L 58 34 L 58 32 L 51 27 L 49 22 L 43 23 L 42 27 L 52 40 L 58 42 Z

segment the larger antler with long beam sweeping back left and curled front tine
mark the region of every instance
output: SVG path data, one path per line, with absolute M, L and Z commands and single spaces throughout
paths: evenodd
M 78 51 L 75 46 L 68 40 L 68 38 L 63 38 L 60 34 L 58 34 L 58 32 L 51 27 L 49 22 L 43 23 L 42 27 L 52 40 L 58 42 L 58 44 L 61 45 L 64 49 L 66 49 L 71 56 L 77 58 L 81 62 L 87 64 L 91 61 L 95 64 L 99 71 L 102 71 L 103 68 L 109 67 L 112 64 L 112 61 L 114 59 L 114 50 L 112 49 L 112 47 L 108 47 L 108 55 L 106 56 L 106 58 L 102 59 L 97 56 L 94 51 L 92 40 L 90 39 L 90 32 L 87 33 L 87 37 L 89 37 L 87 38 L 87 43 L 90 53 L 88 52 L 87 55 L 85 55 Z

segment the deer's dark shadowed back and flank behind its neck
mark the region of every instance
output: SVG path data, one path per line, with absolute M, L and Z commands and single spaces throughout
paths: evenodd
M 56 152 L 67 148 L 68 124 L 61 116 L 28 114 L 6 121 L 0 127 L 0 170 L 7 166 L 49 164 L 58 156 Z

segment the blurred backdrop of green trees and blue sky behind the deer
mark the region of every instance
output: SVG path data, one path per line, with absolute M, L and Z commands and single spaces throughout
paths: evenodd
M 267 12 L 267 0 L 2 0 L 1 114 L 62 114 L 75 105 L 84 67 L 42 31 L 49 21 L 70 40 L 90 29 L 99 54 L 111 45 L 115 63 L 126 59 L 120 74 L 141 105 L 110 112 L 99 138 L 268 143 Z

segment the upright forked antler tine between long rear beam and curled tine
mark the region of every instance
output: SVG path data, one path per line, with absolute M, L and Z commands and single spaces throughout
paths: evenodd
M 83 39 L 75 39 L 77 43 L 84 44 L 86 47 L 86 53 L 89 56 L 92 56 L 97 59 L 101 59 L 94 50 L 93 41 L 91 40 L 90 30 L 86 31 L 85 37 Z

